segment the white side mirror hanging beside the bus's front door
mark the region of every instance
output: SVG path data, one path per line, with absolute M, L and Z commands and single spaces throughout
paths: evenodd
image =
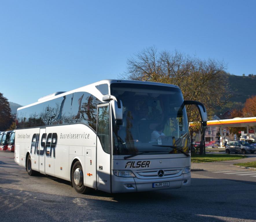
M 117 99 L 113 95 L 106 95 L 102 98 L 104 102 L 110 101 L 116 125 L 122 125 L 123 123 L 123 103 L 120 99 Z

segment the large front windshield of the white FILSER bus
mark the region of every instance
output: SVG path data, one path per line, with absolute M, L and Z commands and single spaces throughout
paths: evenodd
M 110 90 L 123 103 L 122 125 L 113 123 L 113 155 L 188 153 L 188 121 L 179 88 L 114 83 Z

